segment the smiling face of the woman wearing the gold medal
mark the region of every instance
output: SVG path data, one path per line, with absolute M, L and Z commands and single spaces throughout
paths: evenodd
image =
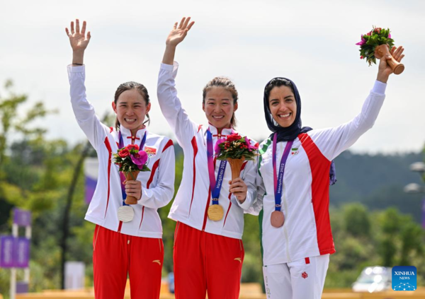
M 209 88 L 202 104 L 208 122 L 217 129 L 230 128 L 233 112 L 237 110 L 237 102 L 233 102 L 229 90 L 218 86 Z

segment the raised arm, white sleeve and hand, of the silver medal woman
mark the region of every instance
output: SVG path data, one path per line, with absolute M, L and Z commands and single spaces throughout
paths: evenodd
M 86 75 L 83 62 L 84 51 L 87 45 L 89 45 L 91 35 L 90 32 L 87 33 L 87 36 L 85 35 L 85 21 L 81 32 L 79 20 L 76 20 L 76 25 L 76 30 L 74 30 L 74 22 L 71 22 L 71 33 L 69 33 L 68 28 L 65 28 L 72 47 L 72 65 L 68 66 L 72 109 L 74 110 L 79 127 L 84 131 L 91 145 L 97 149 L 99 139 L 104 138 L 106 131 L 109 129 L 101 124 L 101 121 L 94 112 L 94 107 L 86 99 L 86 86 L 84 86 Z

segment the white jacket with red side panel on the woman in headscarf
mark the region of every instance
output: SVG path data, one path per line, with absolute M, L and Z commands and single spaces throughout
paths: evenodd
M 385 98 L 386 84 L 375 82 L 361 113 L 351 122 L 330 129 L 313 129 L 298 135 L 285 164 L 282 208 L 285 224 L 271 225 L 275 211 L 272 148 L 269 138 L 260 145 L 258 200 L 252 213 L 261 210 L 263 264 L 281 264 L 335 252 L 329 221 L 329 168 L 331 160 L 353 145 L 375 123 Z M 286 141 L 277 144 L 280 165 Z

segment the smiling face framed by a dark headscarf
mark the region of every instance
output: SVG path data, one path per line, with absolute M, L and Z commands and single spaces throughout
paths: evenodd
M 297 115 L 297 102 L 289 86 L 275 86 L 268 95 L 268 109 L 280 127 L 289 127 Z

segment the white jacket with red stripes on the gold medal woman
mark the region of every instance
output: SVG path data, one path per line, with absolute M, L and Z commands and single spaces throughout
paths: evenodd
M 229 193 L 228 182 L 232 180 L 232 172 L 227 163 L 225 177 L 220 190 L 219 204 L 224 209 L 221 221 L 210 221 L 207 216 L 208 206 L 212 204 L 210 180 L 208 176 L 206 131 L 212 133 L 212 143 L 232 133 L 232 129 L 217 128 L 212 125 L 195 124 L 189 119 L 186 110 L 181 107 L 175 88 L 178 64 L 174 66 L 161 64 L 158 78 L 158 100 L 162 113 L 176 134 L 177 141 L 183 148 L 183 178 L 171 206 L 169 218 L 181 221 L 192 228 L 205 230 L 207 233 L 241 239 L 244 231 L 244 210 L 249 209 L 256 198 L 256 161 L 247 161 L 242 166 L 240 177 L 248 187 L 243 204 Z M 253 141 L 254 145 L 254 141 Z M 220 160 L 215 163 L 215 177 Z

